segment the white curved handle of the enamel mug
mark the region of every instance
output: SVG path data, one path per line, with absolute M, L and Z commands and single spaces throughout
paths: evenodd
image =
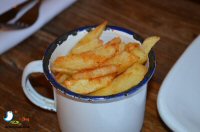
M 35 105 L 56 112 L 55 100 L 40 95 L 31 85 L 29 75 L 32 73 L 44 73 L 42 60 L 32 61 L 26 65 L 22 75 L 22 88 L 26 97 Z

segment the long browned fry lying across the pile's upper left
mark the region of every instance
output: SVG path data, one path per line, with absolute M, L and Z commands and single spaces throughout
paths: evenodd
M 115 38 L 95 50 L 83 52 L 81 54 L 70 54 L 68 56 L 58 57 L 52 65 L 53 71 L 63 71 L 71 69 L 80 71 L 83 69 L 92 69 L 108 58 L 111 58 L 118 51 L 115 45 L 120 44 L 121 40 Z M 68 70 L 67 70 L 68 71 Z M 67 72 L 65 71 L 65 72 Z

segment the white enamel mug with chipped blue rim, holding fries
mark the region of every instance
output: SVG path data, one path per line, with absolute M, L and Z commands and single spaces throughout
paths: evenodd
M 55 80 L 50 70 L 58 56 L 66 55 L 93 28 L 82 27 L 61 36 L 47 48 L 43 60 L 29 63 L 22 76 L 24 93 L 35 105 L 57 112 L 63 132 L 139 132 L 144 119 L 147 83 L 155 71 L 152 51 L 144 79 L 137 86 L 111 96 L 87 96 L 71 92 Z M 115 26 L 107 26 L 101 39 L 107 42 L 116 36 L 125 43 L 143 41 L 136 33 Z M 28 77 L 35 72 L 44 73 L 52 84 L 54 100 L 41 96 L 31 86 Z

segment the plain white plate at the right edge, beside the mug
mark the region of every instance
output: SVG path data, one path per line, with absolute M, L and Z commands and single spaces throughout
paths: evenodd
M 157 106 L 161 118 L 173 131 L 200 131 L 200 36 L 163 81 Z

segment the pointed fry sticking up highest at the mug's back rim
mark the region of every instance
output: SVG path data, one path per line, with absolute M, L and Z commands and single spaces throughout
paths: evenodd
M 104 31 L 107 25 L 107 21 L 104 21 L 101 25 L 96 27 L 94 30 L 86 34 L 76 46 L 71 50 L 72 54 L 80 54 L 86 51 L 93 50 L 97 47 L 102 46 L 102 41 L 99 40 L 100 35 Z

